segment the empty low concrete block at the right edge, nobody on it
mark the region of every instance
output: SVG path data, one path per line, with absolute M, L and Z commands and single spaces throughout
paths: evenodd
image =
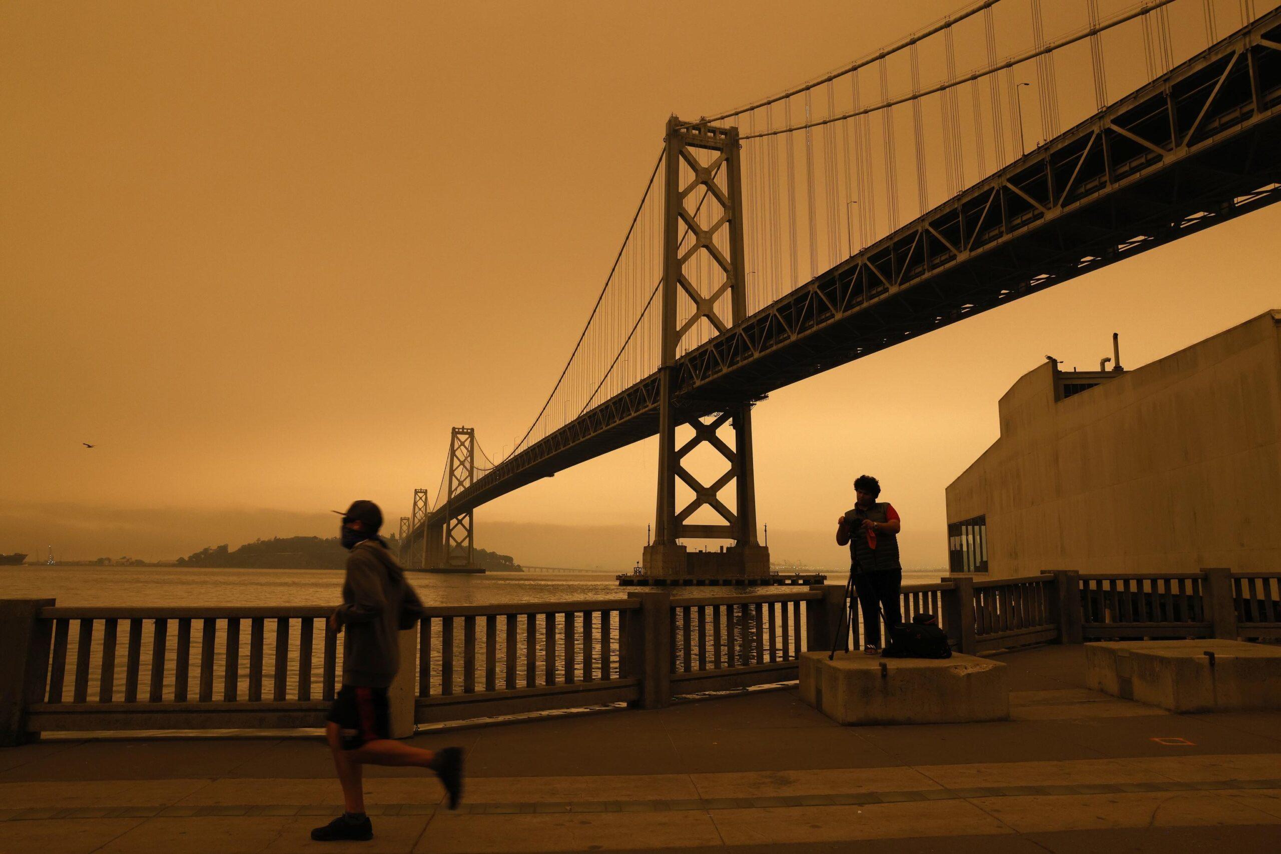
M 1281 709 L 1281 649 L 1241 640 L 1085 644 L 1088 685 L 1171 712 Z

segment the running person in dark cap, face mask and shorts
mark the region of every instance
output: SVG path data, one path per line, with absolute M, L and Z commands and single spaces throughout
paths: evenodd
M 339 511 L 334 511 L 339 512 Z M 391 737 L 387 688 L 400 665 L 400 630 L 416 622 L 423 604 L 405 572 L 378 536 L 383 513 L 371 501 L 352 502 L 342 513 L 342 545 L 351 551 L 342 585 L 342 606 L 329 616 L 329 630 L 342 641 L 342 689 L 329 709 L 325 737 L 342 784 L 343 812 L 311 839 L 368 840 L 373 823 L 365 814 L 361 766 L 415 766 L 441 778 L 456 809 L 462 795 L 462 750 L 423 750 Z

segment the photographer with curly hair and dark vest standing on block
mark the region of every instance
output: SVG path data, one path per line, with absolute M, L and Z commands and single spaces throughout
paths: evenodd
M 858 594 L 858 607 L 863 615 L 863 652 L 880 652 L 880 618 L 877 608 L 885 611 L 885 630 L 889 631 L 902 617 L 898 592 L 903 584 L 903 567 L 898 560 L 898 512 L 888 502 L 879 502 L 880 483 L 871 475 L 861 475 L 854 481 L 854 508 L 836 520 L 836 544 L 849 544 L 849 574 Z

